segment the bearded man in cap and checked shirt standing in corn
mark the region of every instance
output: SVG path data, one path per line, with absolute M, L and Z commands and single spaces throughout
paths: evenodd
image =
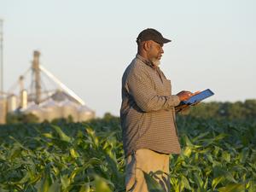
M 137 55 L 122 78 L 120 109 L 125 149 L 126 191 L 148 191 L 143 172 L 164 172 L 158 182 L 170 191 L 169 154 L 179 154 L 175 106 L 192 94 L 172 95 L 171 81 L 160 70 L 163 45 L 171 42 L 148 28 L 137 37 Z

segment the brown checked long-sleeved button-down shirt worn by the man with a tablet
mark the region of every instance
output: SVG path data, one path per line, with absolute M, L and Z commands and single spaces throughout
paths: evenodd
M 159 67 L 137 55 L 122 78 L 120 119 L 125 156 L 139 148 L 179 154 L 171 81 Z

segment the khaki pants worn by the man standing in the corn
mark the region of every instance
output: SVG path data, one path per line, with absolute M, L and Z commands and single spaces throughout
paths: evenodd
M 148 192 L 143 172 L 162 171 L 166 174 L 157 175 L 157 181 L 163 189 L 170 191 L 169 154 L 160 154 L 149 149 L 138 149 L 135 154 L 126 158 L 125 186 L 129 192 Z

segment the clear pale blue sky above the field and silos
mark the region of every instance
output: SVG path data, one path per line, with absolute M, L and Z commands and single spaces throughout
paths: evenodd
M 210 88 L 207 101 L 256 98 L 256 1 L 0 0 L 4 87 L 41 64 L 97 116 L 119 114 L 121 77 L 137 52 L 137 34 L 152 27 L 165 44 L 161 69 L 180 90 Z

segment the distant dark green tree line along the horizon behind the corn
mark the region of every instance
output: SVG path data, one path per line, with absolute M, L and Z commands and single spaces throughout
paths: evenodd
M 189 108 L 189 112 L 185 116 L 179 113 L 177 116 L 201 119 L 256 119 L 256 99 L 246 100 L 245 102 L 200 102 Z M 118 117 L 114 117 L 111 113 L 106 113 L 102 119 L 108 120 L 112 118 L 118 119 Z M 54 119 L 50 123 L 56 122 L 72 123 L 73 119 L 72 117 L 68 119 Z M 7 124 L 20 123 L 38 123 L 38 118 L 32 113 L 9 113 L 7 115 Z

